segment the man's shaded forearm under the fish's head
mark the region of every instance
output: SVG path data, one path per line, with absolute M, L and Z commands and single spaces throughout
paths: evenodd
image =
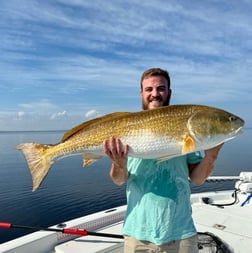
M 198 165 L 189 166 L 189 177 L 191 182 L 195 185 L 201 185 L 205 182 L 206 178 L 212 173 L 214 162 L 218 157 L 218 153 L 223 146 L 223 143 L 205 150 L 205 156 Z

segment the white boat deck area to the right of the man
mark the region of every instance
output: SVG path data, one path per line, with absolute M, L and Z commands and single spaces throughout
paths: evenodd
M 229 195 L 229 198 L 227 196 Z M 228 242 L 235 253 L 251 252 L 252 249 L 252 203 L 246 200 L 248 194 L 239 194 L 237 203 L 227 205 L 234 201 L 232 192 L 214 192 L 208 194 L 208 201 L 220 206 L 205 204 L 202 197 L 206 194 L 198 194 L 198 200 L 192 203 L 193 219 L 200 232 L 211 232 Z M 192 199 L 193 200 L 193 199 Z M 223 204 L 223 206 L 221 206 Z

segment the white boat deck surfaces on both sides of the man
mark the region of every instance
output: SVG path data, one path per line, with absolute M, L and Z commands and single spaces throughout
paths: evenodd
M 237 253 L 249 252 L 246 249 L 252 249 L 252 204 L 248 202 L 241 206 L 247 195 L 240 194 L 237 203 L 225 206 L 225 204 L 234 202 L 232 193 L 232 191 L 223 191 L 193 195 L 191 198 L 193 219 L 198 232 L 210 232 L 217 235 L 224 242 L 229 242 L 229 248 L 235 249 Z M 202 198 L 206 197 L 209 203 L 220 206 L 205 204 Z M 122 222 L 119 222 L 99 232 L 120 234 L 121 228 Z M 85 244 L 87 253 L 123 252 L 121 239 L 88 236 L 56 246 L 55 253 L 81 252 L 83 244 Z

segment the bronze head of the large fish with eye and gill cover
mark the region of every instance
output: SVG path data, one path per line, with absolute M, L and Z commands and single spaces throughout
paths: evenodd
M 188 120 L 187 128 L 202 148 L 214 147 L 238 136 L 244 120 L 227 111 L 207 107 L 196 111 Z

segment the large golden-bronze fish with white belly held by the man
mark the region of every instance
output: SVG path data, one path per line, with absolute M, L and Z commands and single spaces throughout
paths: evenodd
M 203 105 L 173 105 L 140 112 L 116 112 L 84 122 L 55 145 L 24 143 L 36 190 L 55 161 L 83 154 L 84 166 L 105 156 L 102 142 L 114 136 L 129 145 L 128 155 L 167 160 L 205 150 L 238 135 L 244 121 L 224 110 Z

